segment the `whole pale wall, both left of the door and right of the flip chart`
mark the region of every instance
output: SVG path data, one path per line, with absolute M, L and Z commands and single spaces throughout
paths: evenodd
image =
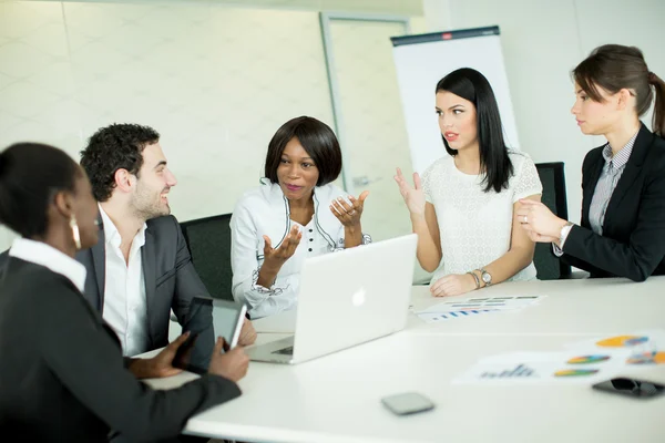
M 174 214 L 232 210 L 256 183 L 279 124 L 299 114 L 332 123 L 317 7 L 419 13 L 411 0 L 265 3 L 279 9 L 0 0 L 0 146 L 43 141 L 78 158 L 101 125 L 151 124 L 180 178 Z M 536 162 L 565 162 L 579 220 L 581 163 L 601 142 L 570 115 L 570 70 L 594 47 L 618 42 L 638 45 L 665 76 L 665 1 L 423 0 L 421 9 L 415 33 L 501 27 L 522 148 Z M 0 228 L 0 249 L 10 238 Z

